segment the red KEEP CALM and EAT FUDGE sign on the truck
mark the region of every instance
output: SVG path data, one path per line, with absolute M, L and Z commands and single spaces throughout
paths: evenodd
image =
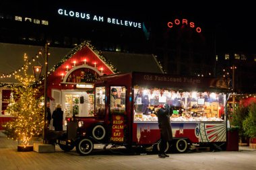
M 112 134 L 110 140 L 113 142 L 124 142 L 124 116 L 113 115 Z

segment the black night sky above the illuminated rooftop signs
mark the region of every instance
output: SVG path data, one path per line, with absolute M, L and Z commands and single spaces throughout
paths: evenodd
M 14 3 L 13 3 L 14 2 Z M 73 10 L 89 11 L 98 15 L 125 17 L 139 22 L 145 22 L 148 28 L 160 26 L 176 18 L 188 19 L 202 28 L 205 36 L 214 36 L 216 52 L 218 50 L 232 50 L 236 52 L 256 53 L 256 14 L 254 5 L 250 3 L 223 3 L 207 1 L 204 3 L 169 1 L 149 2 L 138 5 L 133 1 L 117 1 L 115 3 L 88 3 L 87 1 L 7 1 L 0 2 L 0 12 L 22 11 L 38 13 L 53 17 L 53 8 L 69 7 Z M 228 2 L 225 2 L 228 3 Z M 243 4 L 245 3 L 245 5 Z M 15 5 L 13 5 L 15 4 Z M 38 10 L 40 9 L 40 10 Z M 55 13 L 56 15 L 56 13 Z

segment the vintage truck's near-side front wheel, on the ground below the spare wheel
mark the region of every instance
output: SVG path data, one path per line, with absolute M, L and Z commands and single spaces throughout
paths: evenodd
M 83 138 L 79 140 L 75 146 L 75 150 L 80 155 L 89 155 L 94 149 L 94 144 L 89 138 Z

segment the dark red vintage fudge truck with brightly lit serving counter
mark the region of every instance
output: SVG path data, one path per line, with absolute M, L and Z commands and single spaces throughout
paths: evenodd
M 110 97 L 111 89 L 117 95 Z M 106 75 L 94 84 L 94 101 L 83 96 L 82 105 L 93 105 L 88 117 L 67 118 L 67 131 L 57 140 L 64 151 L 74 147 L 81 155 L 93 151 L 94 144 L 153 147 L 159 150 L 160 130 L 154 108 L 168 103 L 173 140 L 179 153 L 197 144 L 226 146 L 226 82 L 212 77 L 183 77 L 158 73 Z M 117 105 L 110 107 L 111 99 Z

